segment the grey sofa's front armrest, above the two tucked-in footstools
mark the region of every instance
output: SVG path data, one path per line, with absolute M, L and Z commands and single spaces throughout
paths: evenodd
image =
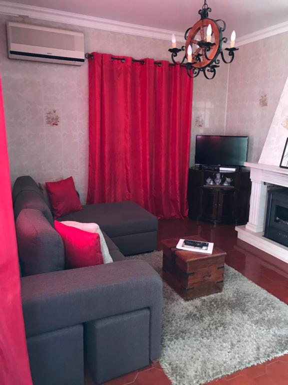
M 27 337 L 149 308 L 150 349 L 159 350 L 162 280 L 144 261 L 120 261 L 22 277 L 21 293 Z

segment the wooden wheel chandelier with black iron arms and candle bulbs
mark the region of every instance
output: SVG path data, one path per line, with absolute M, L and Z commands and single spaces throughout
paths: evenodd
M 186 30 L 184 38 L 186 44 L 181 48 L 176 48 L 175 35 L 172 35 L 172 48 L 168 51 L 171 52 L 171 59 L 174 64 L 184 65 L 186 67 L 187 74 L 190 78 L 195 78 L 200 72 L 206 79 L 213 79 L 216 75 L 216 68 L 219 67 L 221 55 L 222 61 L 229 64 L 234 59 L 234 52 L 238 50 L 235 48 L 235 31 L 232 32 L 230 38 L 230 48 L 225 48 L 227 51 L 227 58 L 225 58 L 222 44 L 227 43 L 227 38 L 222 36 L 222 33 L 226 29 L 226 24 L 223 20 L 209 19 L 209 8 L 204 0 L 204 4 L 198 14 L 201 19 Z M 175 61 L 178 53 L 185 51 L 181 62 Z M 184 61 L 187 60 L 186 63 Z

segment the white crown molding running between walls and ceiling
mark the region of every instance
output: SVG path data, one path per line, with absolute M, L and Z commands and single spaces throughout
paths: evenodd
M 139 26 L 136 24 L 117 22 L 92 16 L 74 14 L 71 12 L 56 11 L 48 8 L 28 6 L 18 3 L 9 3 L 0 0 L 0 13 L 12 16 L 26 16 L 33 19 L 47 20 L 50 22 L 64 23 L 81 27 L 95 28 L 104 31 L 113 31 L 128 35 L 144 36 L 154 39 L 170 40 L 172 33 L 178 42 L 184 41 L 184 31 L 175 32 L 159 28 Z M 273 35 L 288 31 L 288 22 L 277 24 L 260 31 L 237 38 L 237 47 L 252 43 Z

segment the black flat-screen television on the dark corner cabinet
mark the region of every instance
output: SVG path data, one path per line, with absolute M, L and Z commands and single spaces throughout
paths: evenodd
M 247 136 L 196 135 L 195 164 L 242 166 Z

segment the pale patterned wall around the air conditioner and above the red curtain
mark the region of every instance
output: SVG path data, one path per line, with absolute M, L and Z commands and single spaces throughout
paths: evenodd
M 83 31 L 86 52 L 168 60 L 170 43 L 107 31 L 0 15 L 0 73 L 11 181 L 73 176 L 82 202 L 88 171 L 87 63 L 81 67 L 7 58 L 7 20 Z M 100 183 L 101 181 L 99 181 Z

